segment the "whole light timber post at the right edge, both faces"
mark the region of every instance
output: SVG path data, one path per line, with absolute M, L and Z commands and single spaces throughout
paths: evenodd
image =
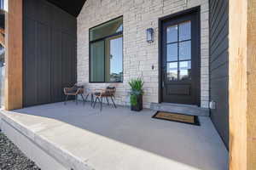
M 256 1 L 230 0 L 230 170 L 256 169 Z

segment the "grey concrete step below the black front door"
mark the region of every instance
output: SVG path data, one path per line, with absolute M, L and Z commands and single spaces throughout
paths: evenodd
M 168 111 L 193 116 L 209 116 L 209 109 L 197 105 L 183 105 L 172 103 L 151 103 L 150 108 L 154 111 Z

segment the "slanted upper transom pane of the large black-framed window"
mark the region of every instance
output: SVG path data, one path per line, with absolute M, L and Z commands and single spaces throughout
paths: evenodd
M 108 23 L 90 29 L 90 41 L 100 39 L 102 37 L 108 37 L 120 31 L 123 31 L 122 17 L 116 20 L 111 20 Z

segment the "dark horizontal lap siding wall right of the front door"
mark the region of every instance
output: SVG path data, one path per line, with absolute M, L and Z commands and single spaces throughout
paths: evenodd
M 210 0 L 210 99 L 212 122 L 229 146 L 229 1 Z

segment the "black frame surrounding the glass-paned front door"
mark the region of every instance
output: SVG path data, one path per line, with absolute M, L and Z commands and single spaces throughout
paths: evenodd
M 197 6 L 197 7 L 194 7 L 194 8 L 189 8 L 189 9 L 186 9 L 186 10 L 183 10 L 181 12 L 178 12 L 178 13 L 175 13 L 175 14 L 170 14 L 170 15 L 167 15 L 167 16 L 164 16 L 162 18 L 160 18 L 158 20 L 158 27 L 159 27 L 159 31 L 158 31 L 158 37 L 159 37 L 159 44 L 158 44 L 158 47 L 159 47 L 159 55 L 158 55 L 158 62 L 159 62 L 159 74 L 158 74 L 158 77 L 159 77 L 159 92 L 158 92 L 158 96 L 159 96 L 159 103 L 162 103 L 163 102 L 163 99 L 162 99 L 162 47 L 163 47 L 163 44 L 162 44 L 162 24 L 163 22 L 165 22 L 166 20 L 172 20 L 172 19 L 175 19 L 177 17 L 181 17 L 183 15 L 186 15 L 186 14 L 192 14 L 192 13 L 197 13 L 197 17 L 198 17 L 198 20 L 199 20 L 199 28 L 198 29 L 198 35 L 199 35 L 199 48 L 200 50 L 198 51 L 198 54 L 199 54 L 199 59 L 198 59 L 198 66 L 199 66 L 199 69 L 197 70 L 198 71 L 198 75 L 200 75 L 200 78 L 198 79 L 198 85 L 196 87 L 196 105 L 200 106 L 201 105 L 201 14 L 200 14 L 200 11 L 201 11 L 201 7 L 200 6 Z

